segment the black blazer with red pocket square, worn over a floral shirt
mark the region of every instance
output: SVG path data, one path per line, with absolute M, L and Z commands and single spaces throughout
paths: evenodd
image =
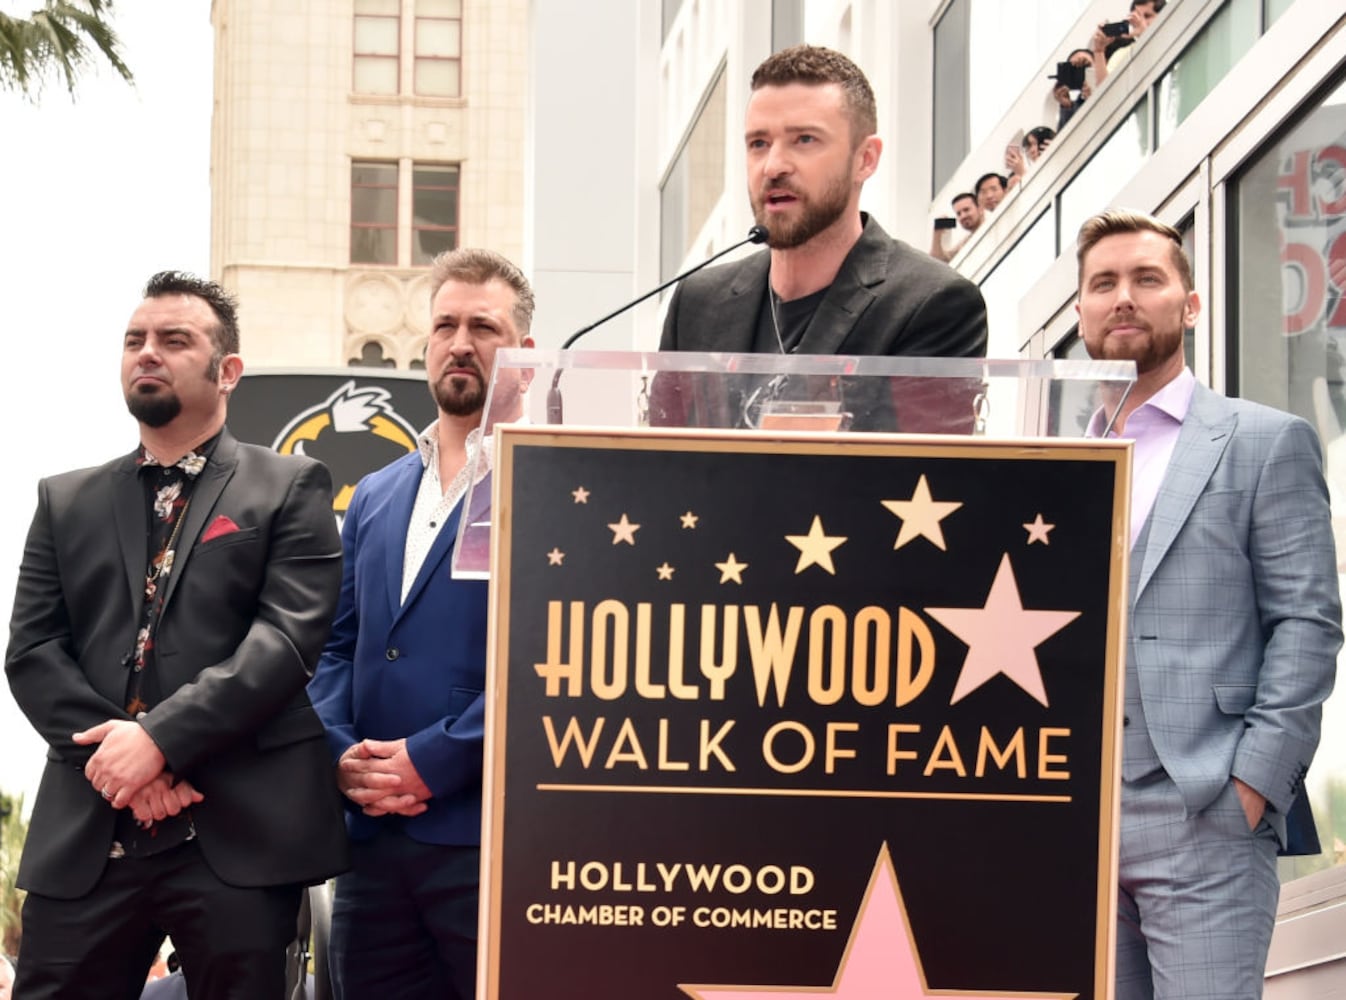
M 221 515 L 237 530 L 199 541 Z M 71 734 L 128 717 L 145 548 L 135 455 L 39 485 L 5 674 L 48 744 L 19 868 L 19 884 L 42 895 L 78 898 L 108 863 L 114 813 L 81 770 L 94 748 Z M 343 869 L 341 797 L 304 693 L 341 585 L 327 470 L 225 431 L 166 585 L 164 699 L 143 725 L 168 769 L 205 795 L 191 814 L 206 863 L 236 886 L 315 883 Z

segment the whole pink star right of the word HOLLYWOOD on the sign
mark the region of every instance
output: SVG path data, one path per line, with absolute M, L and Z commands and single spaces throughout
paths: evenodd
M 1000 559 L 985 607 L 927 607 L 926 614 L 968 643 L 950 705 L 1001 673 L 1046 705 L 1047 689 L 1034 650 L 1079 618 L 1078 611 L 1026 610 L 1008 552 Z

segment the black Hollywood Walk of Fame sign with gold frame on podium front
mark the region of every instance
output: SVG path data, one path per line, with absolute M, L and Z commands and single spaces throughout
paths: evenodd
M 1127 458 L 498 428 L 485 996 L 1110 996 Z

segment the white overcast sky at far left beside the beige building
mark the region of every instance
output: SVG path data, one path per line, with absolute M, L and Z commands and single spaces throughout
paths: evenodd
M 36 0 L 0 0 L 24 13 Z M 90 73 L 71 102 L 0 93 L 0 608 L 8 622 L 43 475 L 136 444 L 118 389 L 121 334 L 155 271 L 210 269 L 209 0 L 133 0 L 114 26 L 135 86 Z M 0 790 L 31 808 L 43 744 L 0 685 Z

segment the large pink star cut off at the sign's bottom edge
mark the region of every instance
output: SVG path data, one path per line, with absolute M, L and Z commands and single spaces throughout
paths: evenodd
M 921 956 L 911 938 L 907 908 L 902 902 L 888 847 L 879 849 L 879 860 L 864 891 L 860 913 L 851 929 L 851 941 L 841 956 L 832 987 L 692 987 L 680 985 L 696 1000 L 1071 1000 L 1078 993 L 957 993 L 931 992 L 926 985 Z

